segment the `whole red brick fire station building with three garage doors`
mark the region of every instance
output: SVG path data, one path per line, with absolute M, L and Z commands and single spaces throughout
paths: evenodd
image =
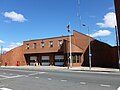
M 89 40 L 92 66 L 118 67 L 116 47 L 112 47 L 75 30 L 73 35 L 71 35 L 72 66 L 89 66 Z M 22 46 L 2 55 L 1 65 L 67 66 L 69 51 L 69 36 L 24 41 Z

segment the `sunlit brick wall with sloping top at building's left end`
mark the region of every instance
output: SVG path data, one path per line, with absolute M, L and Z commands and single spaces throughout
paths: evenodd
M 26 65 L 24 58 L 23 46 L 19 46 L 2 55 L 2 65 L 16 66 L 17 61 L 20 62 L 20 65 Z

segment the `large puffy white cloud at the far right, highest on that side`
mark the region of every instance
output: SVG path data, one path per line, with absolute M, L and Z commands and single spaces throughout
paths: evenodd
M 115 28 L 116 24 L 116 14 L 114 12 L 107 13 L 103 18 L 103 23 L 96 23 L 96 25 L 101 28 Z

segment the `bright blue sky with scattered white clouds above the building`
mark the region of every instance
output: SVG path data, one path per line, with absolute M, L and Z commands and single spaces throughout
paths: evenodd
M 23 41 L 68 35 L 66 26 L 112 46 L 115 42 L 113 0 L 1 0 L 0 46 L 10 50 Z M 85 24 L 86 27 L 83 27 Z

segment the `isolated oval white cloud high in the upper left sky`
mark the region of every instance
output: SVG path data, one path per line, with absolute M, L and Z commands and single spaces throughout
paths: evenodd
M 18 13 L 14 12 L 14 11 L 5 12 L 4 16 L 11 19 L 12 21 L 17 21 L 17 22 L 26 21 L 25 17 L 22 14 L 18 14 Z

